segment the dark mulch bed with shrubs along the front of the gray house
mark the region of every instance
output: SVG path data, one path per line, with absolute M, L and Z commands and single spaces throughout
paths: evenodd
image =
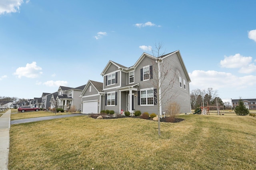
M 90 117 L 96 119 L 100 115 L 99 114 L 90 114 Z M 101 115 L 101 116 L 103 117 L 103 119 L 119 119 L 119 118 L 137 118 L 137 119 L 142 119 L 140 116 L 122 116 L 122 115 Z M 150 118 L 150 117 L 147 120 L 153 121 L 153 119 Z M 168 123 L 178 123 L 178 122 L 181 122 L 181 121 L 184 121 L 184 120 L 185 119 L 176 118 L 175 120 L 171 120 L 170 121 L 170 119 L 168 119 L 168 117 L 160 118 L 160 122 L 168 122 Z

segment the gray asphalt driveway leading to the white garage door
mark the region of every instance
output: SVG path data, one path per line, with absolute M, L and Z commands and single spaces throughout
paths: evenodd
M 51 120 L 51 119 L 58 119 L 63 117 L 73 117 L 73 116 L 84 116 L 86 114 L 78 113 L 78 114 L 69 114 L 69 115 L 56 115 L 56 116 L 46 116 L 46 117 L 34 117 L 28 119 L 19 119 L 11 121 L 11 125 L 19 124 L 19 123 L 29 123 L 34 121 L 43 121 L 43 120 Z

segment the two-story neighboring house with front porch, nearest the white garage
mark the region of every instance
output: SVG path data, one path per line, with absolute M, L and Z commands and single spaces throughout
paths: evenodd
M 58 89 L 58 96 L 56 98 L 58 101 L 58 107 L 64 109 L 64 111 L 70 109 L 71 107 L 75 110 L 80 110 L 80 94 L 84 90 L 85 86 L 86 84 L 76 88 L 60 86 Z

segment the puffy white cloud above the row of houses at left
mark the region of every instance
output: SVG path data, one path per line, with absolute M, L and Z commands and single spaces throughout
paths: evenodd
M 33 61 L 31 64 L 27 63 L 26 67 L 17 68 L 16 72 L 14 72 L 13 74 L 17 75 L 18 78 L 21 78 L 22 76 L 28 78 L 36 78 L 43 73 L 40 70 L 42 70 L 42 68 L 40 66 L 37 66 L 36 62 Z

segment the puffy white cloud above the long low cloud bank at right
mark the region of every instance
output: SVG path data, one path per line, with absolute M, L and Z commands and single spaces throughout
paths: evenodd
M 220 66 L 225 68 L 240 68 L 247 66 L 252 62 L 252 57 L 244 57 L 240 54 L 224 56 L 224 60 L 220 61 Z

